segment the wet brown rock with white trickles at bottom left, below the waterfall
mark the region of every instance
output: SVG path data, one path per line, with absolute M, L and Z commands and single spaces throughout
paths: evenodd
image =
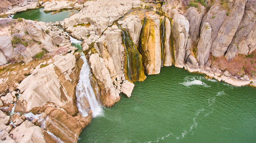
M 92 119 L 92 111 L 89 111 L 87 117 L 82 117 L 80 114 L 73 117 L 55 105 L 46 105 L 41 110 L 43 112 L 39 115 L 27 113 L 25 116 L 32 123 L 47 131 L 48 134 L 56 136 L 63 142 L 77 142 L 79 133 Z M 53 140 L 57 142 L 56 138 Z

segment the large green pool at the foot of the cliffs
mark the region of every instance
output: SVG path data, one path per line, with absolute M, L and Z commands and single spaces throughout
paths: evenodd
M 256 89 L 163 67 L 105 108 L 78 142 L 256 142 Z

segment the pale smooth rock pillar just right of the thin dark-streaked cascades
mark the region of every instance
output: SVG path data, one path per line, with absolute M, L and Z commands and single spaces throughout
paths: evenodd
M 184 67 L 186 45 L 188 39 L 189 22 L 181 14 L 174 15 L 173 19 L 173 36 L 175 47 L 175 66 Z

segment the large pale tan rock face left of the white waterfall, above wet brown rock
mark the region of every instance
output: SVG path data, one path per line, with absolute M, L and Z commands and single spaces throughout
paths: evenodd
M 65 97 L 66 99 L 61 97 L 60 81 L 53 64 L 35 69 L 19 84 L 18 89 L 22 95 L 17 101 L 15 111 L 19 112 L 29 112 L 32 108 L 43 106 L 47 102 L 63 106 L 71 100 L 69 96 Z

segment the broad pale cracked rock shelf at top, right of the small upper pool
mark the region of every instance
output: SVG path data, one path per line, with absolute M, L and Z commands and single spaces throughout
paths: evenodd
M 68 32 L 72 33 L 72 36 L 78 39 L 87 39 L 86 36 L 89 34 L 90 38 L 93 38 L 95 35 L 101 35 L 108 25 L 112 25 L 130 9 L 140 7 L 140 3 L 137 0 L 117 0 L 115 3 L 111 0 L 87 1 L 83 4 L 84 9 L 61 23 Z M 90 26 L 73 27 L 82 23 L 90 23 Z

